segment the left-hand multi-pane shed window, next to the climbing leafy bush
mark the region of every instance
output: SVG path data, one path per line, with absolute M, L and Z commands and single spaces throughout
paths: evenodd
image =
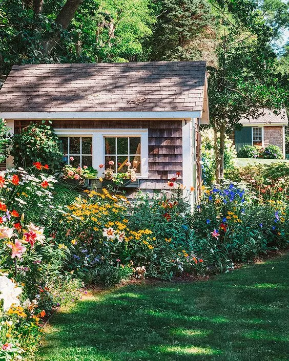
M 63 160 L 73 167 L 92 166 L 92 137 L 59 137 Z

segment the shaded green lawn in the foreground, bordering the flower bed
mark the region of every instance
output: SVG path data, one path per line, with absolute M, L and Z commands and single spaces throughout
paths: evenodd
M 289 255 L 209 281 L 95 293 L 52 319 L 38 361 L 281 361 Z

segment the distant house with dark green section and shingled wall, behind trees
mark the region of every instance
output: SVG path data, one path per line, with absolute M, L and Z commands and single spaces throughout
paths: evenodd
M 265 110 L 264 115 L 258 119 L 245 119 L 240 121 L 243 128 L 240 131 L 230 133 L 236 151 L 244 145 L 260 145 L 265 147 L 269 144 L 278 145 L 285 158 L 285 126 L 288 125 L 286 110 L 283 109 L 279 115 L 270 110 Z

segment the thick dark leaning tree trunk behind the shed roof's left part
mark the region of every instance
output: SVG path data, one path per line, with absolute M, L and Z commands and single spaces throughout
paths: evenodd
M 55 19 L 55 23 L 59 26 L 59 30 L 56 30 L 51 38 L 46 40 L 43 44 L 44 55 L 49 56 L 52 49 L 58 43 L 60 39 L 61 30 L 66 30 L 69 26 L 76 10 L 83 0 L 67 0 L 64 7 L 60 10 Z

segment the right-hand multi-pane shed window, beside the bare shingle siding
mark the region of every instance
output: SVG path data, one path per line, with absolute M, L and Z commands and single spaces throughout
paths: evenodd
M 105 166 L 113 161 L 114 171 L 126 172 L 127 162 L 140 174 L 140 137 L 105 137 Z

